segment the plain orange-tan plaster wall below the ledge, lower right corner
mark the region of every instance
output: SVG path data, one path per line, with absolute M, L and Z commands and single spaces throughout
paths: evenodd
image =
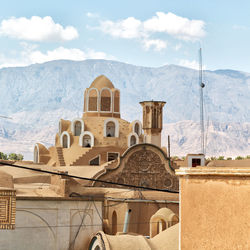
M 250 177 L 232 175 L 180 177 L 182 250 L 250 249 Z

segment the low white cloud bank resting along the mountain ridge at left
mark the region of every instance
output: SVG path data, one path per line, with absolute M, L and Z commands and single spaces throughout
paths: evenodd
M 82 61 L 86 59 L 115 59 L 113 56 L 104 52 L 87 49 L 82 51 L 75 48 L 58 47 L 54 50 L 48 50 L 45 53 L 36 49 L 36 46 L 24 44 L 24 50 L 20 53 L 19 58 L 7 58 L 0 54 L 0 68 L 27 66 L 34 63 L 44 63 L 53 60 L 74 60 Z

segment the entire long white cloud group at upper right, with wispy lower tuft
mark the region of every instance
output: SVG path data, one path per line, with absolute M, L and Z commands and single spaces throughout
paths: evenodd
M 97 29 L 115 38 L 137 39 L 142 42 L 144 48 L 152 47 L 156 50 L 166 48 L 164 42 L 155 39 L 157 34 L 167 34 L 180 40 L 196 41 L 205 36 L 205 22 L 202 20 L 190 20 L 177 16 L 171 12 L 156 12 L 156 15 L 145 21 L 134 17 L 128 17 L 118 21 L 101 21 Z M 145 43 L 146 40 L 146 43 Z M 159 42 L 161 41 L 161 42 Z M 178 50 L 180 46 L 176 46 Z

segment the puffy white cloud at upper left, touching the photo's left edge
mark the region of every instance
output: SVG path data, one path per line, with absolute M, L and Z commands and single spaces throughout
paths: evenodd
M 78 32 L 73 26 L 63 27 L 55 23 L 50 16 L 41 18 L 32 16 L 12 17 L 3 20 L 0 25 L 0 35 L 27 41 L 69 41 L 78 37 Z

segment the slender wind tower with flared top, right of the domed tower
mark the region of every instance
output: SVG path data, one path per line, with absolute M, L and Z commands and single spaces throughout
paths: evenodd
M 140 102 L 143 108 L 143 125 L 145 142 L 161 147 L 162 110 L 166 102 Z

